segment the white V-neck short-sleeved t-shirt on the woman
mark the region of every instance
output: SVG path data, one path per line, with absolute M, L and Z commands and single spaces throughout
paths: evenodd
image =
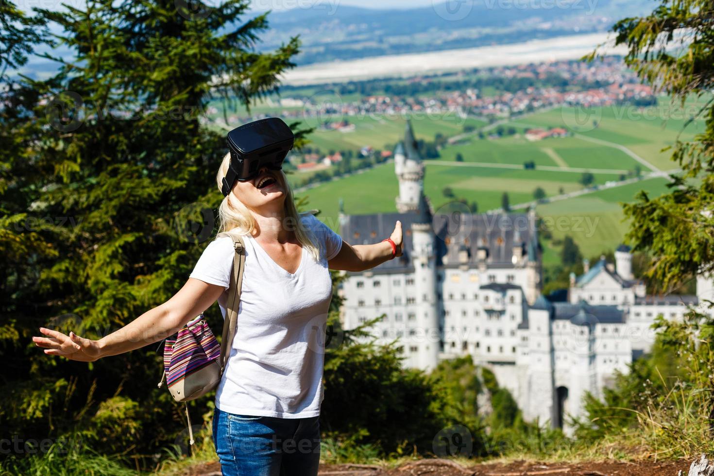
M 294 274 L 281 268 L 256 240 L 246 235 L 246 268 L 238 306 L 236 336 L 216 407 L 239 415 L 306 418 L 320 414 L 325 323 L 332 297 L 327 261 L 342 238 L 312 215 L 301 217 L 321 249 L 316 261 L 303 248 Z M 218 304 L 226 318 L 233 270 L 233 240 L 221 237 L 203 251 L 191 278 L 222 285 Z

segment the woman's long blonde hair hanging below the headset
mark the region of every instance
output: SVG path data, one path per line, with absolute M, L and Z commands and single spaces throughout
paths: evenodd
M 226 173 L 228 173 L 228 166 L 230 166 L 230 164 L 231 153 L 228 152 L 226 156 L 223 157 L 223 162 L 221 162 L 221 167 L 218 168 L 218 174 L 216 175 L 218 190 L 221 190 L 223 187 L 223 178 L 226 176 Z M 283 208 L 285 220 L 295 224 L 291 227 L 295 233 L 295 238 L 297 238 L 303 248 L 308 250 L 313 258 L 318 261 L 320 260 L 322 250 L 315 244 L 317 240 L 313 233 L 309 231 L 301 221 L 302 216 L 310 215 L 310 213 L 298 213 L 298 209 L 295 208 L 295 201 L 293 200 L 293 189 L 290 183 L 288 183 L 288 178 L 285 176 L 285 172 L 279 171 L 279 173 L 286 188 Z M 256 226 L 256 218 L 253 216 L 253 213 L 251 213 L 251 209 L 238 200 L 233 193 L 228 193 L 228 195 L 223 198 L 223 201 L 221 201 L 221 205 L 218 206 L 218 233 L 252 235 L 253 231 L 256 230 Z

